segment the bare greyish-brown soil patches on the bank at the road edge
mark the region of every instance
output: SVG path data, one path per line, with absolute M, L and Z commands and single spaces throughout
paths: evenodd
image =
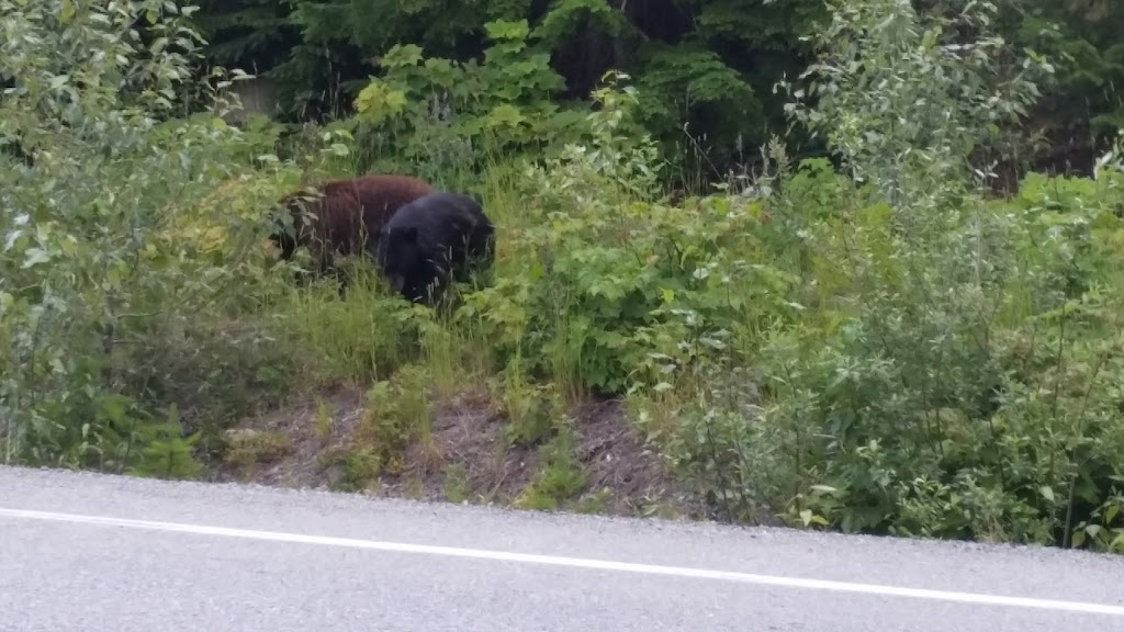
M 211 471 L 214 478 L 338 488 L 346 475 L 335 457 L 353 449 L 353 435 L 365 413 L 363 399 L 362 391 L 339 389 L 246 419 L 228 431 L 230 443 L 268 444 L 274 449 L 262 450 L 261 459 L 254 462 L 220 463 Z M 619 399 L 587 401 L 572 415 L 579 436 L 578 457 L 588 476 L 586 489 L 573 500 L 600 494 L 598 508 L 592 511 L 615 515 L 701 515 L 700 507 L 688 500 L 659 455 L 637 437 Z M 325 423 L 325 417 L 330 423 Z M 438 401 L 430 436 L 407 448 L 402 473 L 383 476 L 363 491 L 510 504 L 534 476 L 538 457 L 535 448 L 508 445 L 504 439 L 506 426 L 507 419 L 484 391 L 462 392 Z M 284 450 L 275 449 L 278 440 L 285 444 Z

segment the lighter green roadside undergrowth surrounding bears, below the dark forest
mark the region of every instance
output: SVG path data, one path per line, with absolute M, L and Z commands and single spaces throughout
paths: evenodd
M 720 520 L 1124 549 L 1124 169 L 1109 154 L 1091 179 L 984 193 L 968 156 L 1048 70 L 1028 57 L 995 80 L 986 20 L 952 47 L 899 2 L 836 10 L 792 115 L 843 168 L 778 138 L 752 195 L 672 205 L 626 76 L 596 107 L 545 111 L 534 57 L 451 126 L 427 123 L 435 88 L 402 49 L 356 119 L 282 160 L 268 123 L 182 115 L 198 45 L 128 28 L 172 33 L 174 4 L 107 7 L 57 19 L 60 2 L 0 0 L 17 87 L 0 133 L 34 159 L 0 155 L 2 462 L 257 468 L 293 446 L 226 431 L 351 388 L 364 412 L 320 454 L 337 487 L 436 476 L 471 500 L 473 463 L 435 439 L 437 405 L 471 392 L 505 424 L 497 450 L 534 455 L 515 505 L 596 512 L 573 410 L 619 397 Z M 501 26 L 496 54 L 518 60 L 526 34 Z M 479 191 L 498 226 L 489 282 L 447 312 L 407 305 L 364 260 L 343 296 L 293 282 L 307 261 L 265 242 L 277 199 L 371 164 L 415 172 L 435 146 L 427 177 Z M 454 150 L 473 169 L 445 170 Z M 324 406 L 309 422 L 325 444 L 338 423 Z

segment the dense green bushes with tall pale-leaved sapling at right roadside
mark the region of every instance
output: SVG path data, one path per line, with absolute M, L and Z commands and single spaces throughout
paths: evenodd
M 1031 178 L 1012 201 L 973 193 L 984 125 L 1033 85 L 984 92 L 985 47 L 937 46 L 913 20 L 894 2 L 835 13 L 826 36 L 846 45 L 795 112 L 865 186 L 812 165 L 778 182 L 768 213 L 797 229 L 783 251 L 813 309 L 733 355 L 760 395 L 708 380 L 669 453 L 735 520 L 765 505 L 844 531 L 1068 543 L 1080 529 L 1120 547 L 1105 536 L 1124 473 L 1118 168 Z

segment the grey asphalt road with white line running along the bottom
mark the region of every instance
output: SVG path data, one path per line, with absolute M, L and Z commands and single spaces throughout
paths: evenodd
M 1072 551 L 0 467 L 4 632 L 1124 632 L 1122 581 Z

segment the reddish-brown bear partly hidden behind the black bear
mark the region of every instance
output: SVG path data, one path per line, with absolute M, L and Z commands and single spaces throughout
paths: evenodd
M 318 189 L 319 195 L 301 189 L 280 200 L 292 217 L 292 232 L 279 226 L 270 240 L 281 249 L 282 260 L 289 260 L 299 246 L 308 247 L 321 273 L 333 268 L 335 254 L 369 251 L 395 211 L 434 191 L 424 180 L 393 174 L 332 180 Z M 308 214 L 315 222 L 310 223 Z

